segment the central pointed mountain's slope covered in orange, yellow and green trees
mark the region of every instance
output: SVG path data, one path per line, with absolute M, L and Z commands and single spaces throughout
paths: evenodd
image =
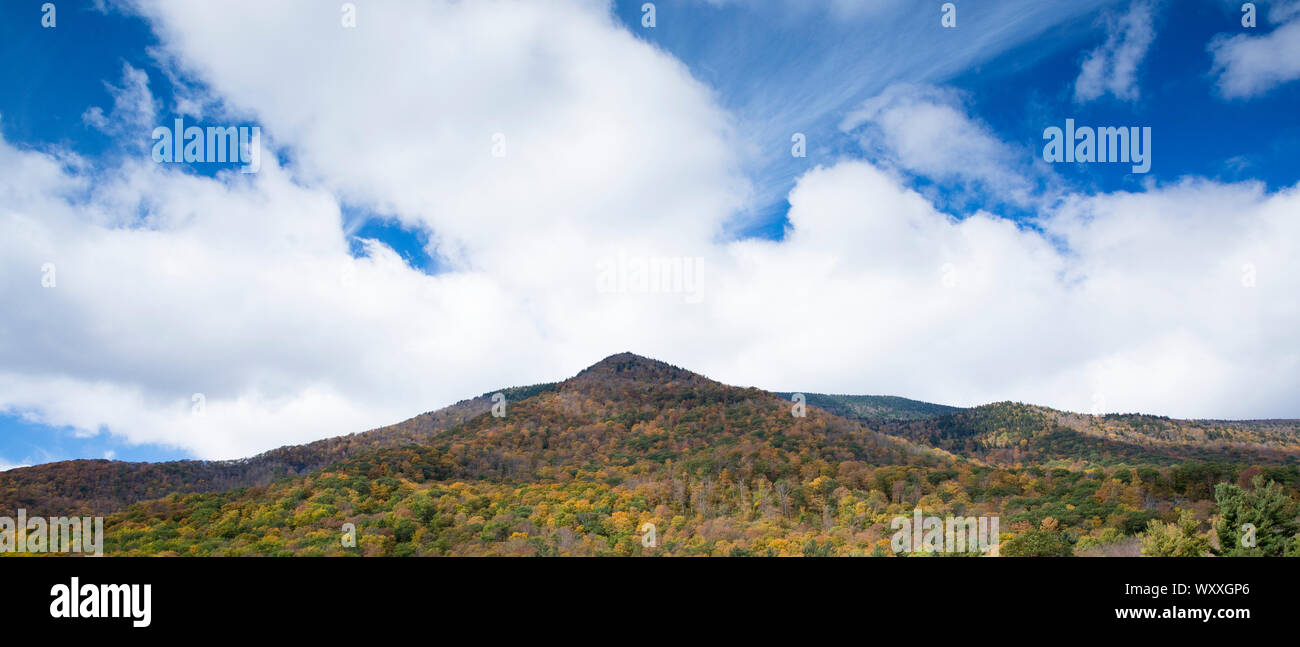
M 637 520 L 653 516 L 671 552 L 766 533 L 775 543 L 763 552 L 798 553 L 833 516 L 835 492 L 880 481 L 919 496 L 907 483 L 953 463 L 815 408 L 794 417 L 766 391 L 615 356 L 420 444 L 268 487 L 131 505 L 107 542 L 143 555 L 604 555 L 638 551 Z M 343 524 L 359 529 L 355 550 L 335 543 Z

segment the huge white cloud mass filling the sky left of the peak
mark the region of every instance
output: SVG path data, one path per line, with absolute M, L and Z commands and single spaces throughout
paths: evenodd
M 699 257 L 746 192 L 707 88 L 589 3 L 367 5 L 355 30 L 312 3 L 142 10 L 299 162 L 91 173 L 0 144 L 21 304 L 0 408 L 46 424 L 230 457 L 575 373 L 625 349 L 620 320 L 692 307 L 597 300 L 598 264 Z M 448 272 L 374 242 L 352 259 L 343 200 L 425 227 Z

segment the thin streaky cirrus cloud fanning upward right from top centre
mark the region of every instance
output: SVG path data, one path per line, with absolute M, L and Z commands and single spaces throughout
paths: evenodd
M 1118 0 L 1009 0 L 978 9 L 957 3 L 957 29 L 945 29 L 941 5 L 878 0 L 666 0 L 660 19 L 682 5 L 718 8 L 716 19 L 663 22 L 693 38 L 675 44 L 697 78 L 718 90 L 742 136 L 744 170 L 753 195 L 738 229 L 755 212 L 784 204 L 809 170 L 790 156 L 790 136 L 806 135 L 810 157 L 833 155 L 845 114 L 892 83 L 941 84 L 1032 42 L 1043 32 Z M 828 19 L 829 18 L 829 19 Z M 641 31 L 644 38 L 656 34 Z M 924 43 L 918 47 L 918 43 Z M 1035 56 L 1066 48 L 1050 39 Z M 762 70 L 762 78 L 753 78 Z

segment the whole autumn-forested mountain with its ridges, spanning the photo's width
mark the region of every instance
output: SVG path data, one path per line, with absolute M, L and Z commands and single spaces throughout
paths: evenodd
M 1131 546 L 1176 508 L 1204 524 L 1217 483 L 1300 487 L 1287 421 L 852 396 L 797 417 L 632 353 L 503 394 L 246 461 L 3 473 L 0 505 L 107 511 L 112 555 L 888 555 L 918 507 L 997 514 L 1014 555 Z

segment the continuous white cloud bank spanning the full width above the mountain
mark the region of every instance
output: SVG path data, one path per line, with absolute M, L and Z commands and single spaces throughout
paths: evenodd
M 928 156 L 936 125 L 1001 155 L 928 90 L 848 121 L 896 164 L 816 168 L 784 240 L 728 242 L 729 116 L 603 5 L 368 4 L 355 30 L 316 6 L 142 6 L 177 71 L 282 147 L 256 174 L 0 140 L 0 411 L 235 457 L 630 349 L 777 390 L 1300 414 L 1296 190 L 953 218 L 898 173 L 1010 181 Z M 343 204 L 428 231 L 445 270 L 354 257 Z M 701 283 L 601 290 L 628 259 L 699 260 Z

